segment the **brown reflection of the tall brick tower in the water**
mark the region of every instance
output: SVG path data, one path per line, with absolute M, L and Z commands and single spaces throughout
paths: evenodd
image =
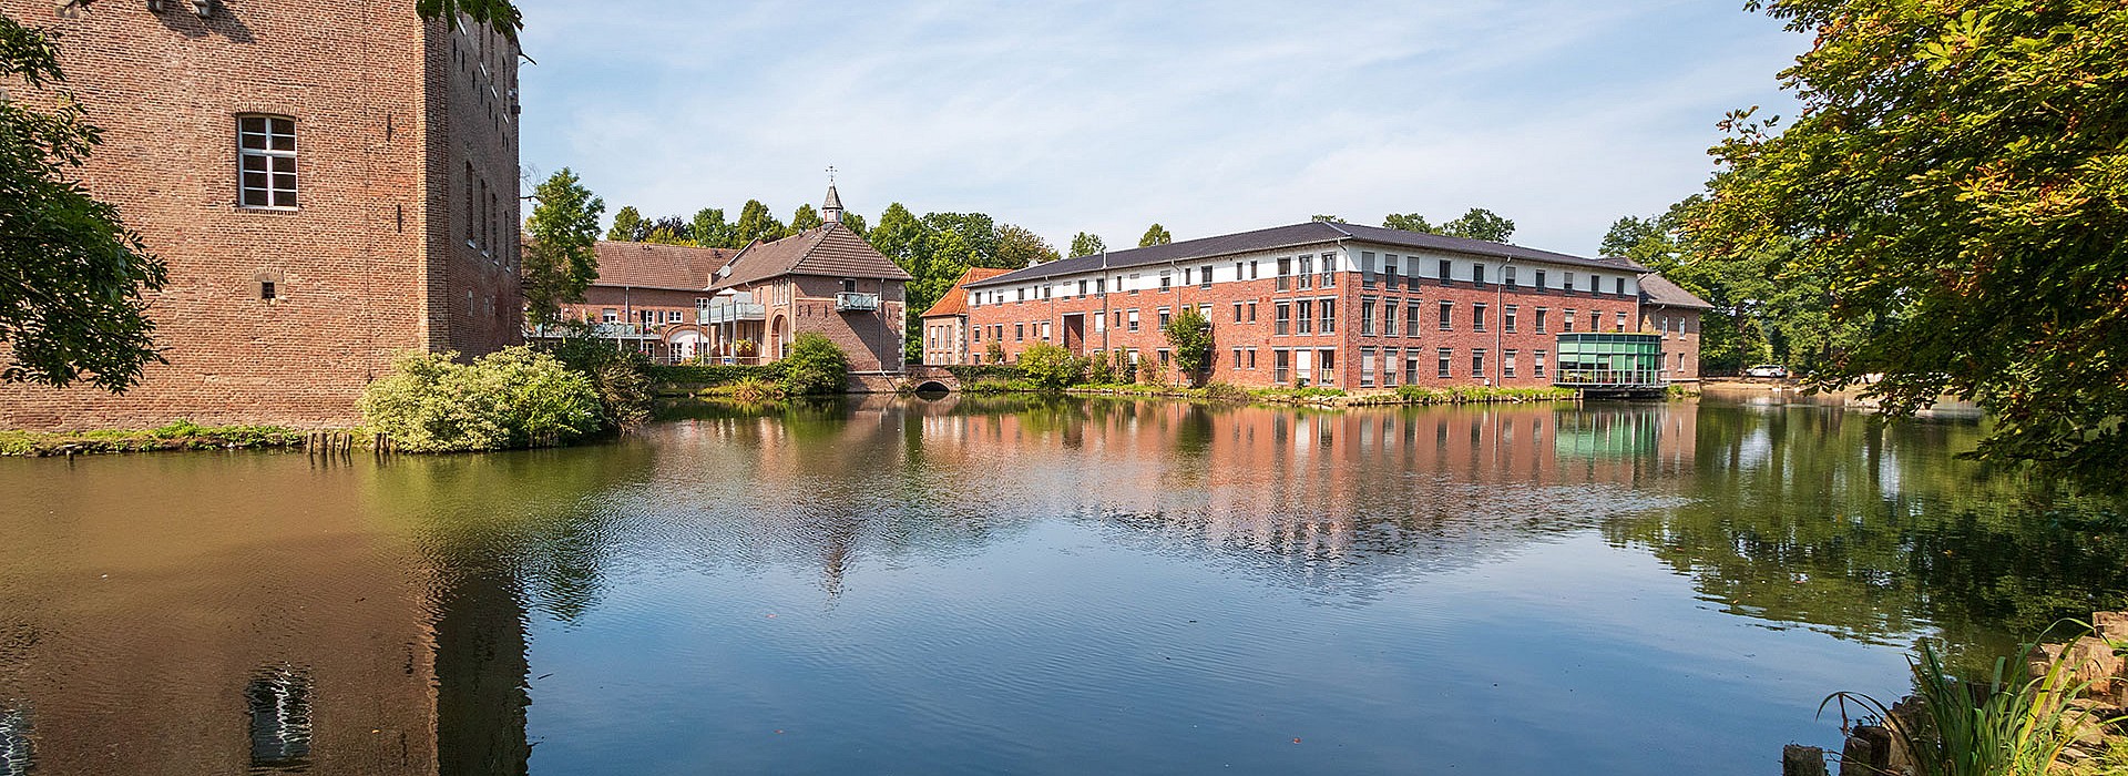
M 57 508 L 0 519 L 0 774 L 526 772 L 515 580 L 419 557 L 368 472 L 198 463 L 4 483 Z

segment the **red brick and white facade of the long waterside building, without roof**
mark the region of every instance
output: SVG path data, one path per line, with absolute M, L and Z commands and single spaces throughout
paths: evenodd
M 1119 251 L 1111 259 L 1130 264 L 1047 274 L 1030 268 L 970 283 L 970 361 L 979 364 L 992 342 L 1017 359 L 1028 344 L 1047 340 L 1083 355 L 1134 353 L 1166 366 L 1162 319 L 1196 306 L 1213 323 L 1213 381 L 1543 387 L 1551 385 L 1558 334 L 1641 330 L 1645 268 L 1626 262 L 1551 259 L 1526 249 L 1524 255 L 1456 253 L 1334 236 L 1253 251 L 1213 247 L 1209 255 L 1160 264 L 1138 264 L 1134 251 Z M 1236 238 L 1243 236 L 1202 242 Z M 1485 247 L 1460 242 L 1475 242 L 1473 251 Z M 1473 268 L 1483 268 L 1481 279 Z M 1181 378 L 1173 368 L 1166 376 Z

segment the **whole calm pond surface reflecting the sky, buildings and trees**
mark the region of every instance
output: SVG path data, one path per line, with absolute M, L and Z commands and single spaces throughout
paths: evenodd
M 1777 774 L 2128 540 L 1781 404 L 694 408 L 0 459 L 0 774 Z

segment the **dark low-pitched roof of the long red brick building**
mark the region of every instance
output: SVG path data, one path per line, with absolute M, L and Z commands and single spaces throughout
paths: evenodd
M 1058 259 L 1049 264 L 1036 264 L 1026 270 L 1000 274 L 990 281 L 970 283 L 970 287 L 1038 281 L 1060 274 L 1096 272 L 1100 268 L 1115 270 L 1115 268 L 1151 266 L 1151 264 L 1196 262 L 1232 253 L 1275 251 L 1275 249 L 1321 244 L 1336 240 L 1366 240 L 1375 244 L 1485 255 L 1496 259 L 1553 262 L 1553 264 L 1590 266 L 1605 270 L 1647 272 L 1647 268 L 1632 264 L 1628 259 L 1590 259 L 1590 257 L 1526 249 L 1519 244 L 1504 244 L 1504 242 L 1449 238 L 1439 234 L 1404 232 L 1404 230 L 1383 230 L 1358 223 L 1309 221 L 1309 223 L 1277 225 L 1256 232 L 1221 234 L 1198 240 L 1156 244 L 1149 249 L 1109 251 L 1107 255 L 1096 253 L 1073 259 Z

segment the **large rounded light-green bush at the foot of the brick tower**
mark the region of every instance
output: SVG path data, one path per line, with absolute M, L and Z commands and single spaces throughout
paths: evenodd
M 458 364 L 458 353 L 409 353 L 362 391 L 362 419 L 400 451 L 498 451 L 564 444 L 604 421 L 587 374 L 530 347 Z

